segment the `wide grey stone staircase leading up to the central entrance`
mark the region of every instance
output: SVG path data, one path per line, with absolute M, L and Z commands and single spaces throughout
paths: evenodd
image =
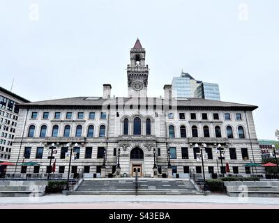
M 84 179 L 71 194 L 202 194 L 196 190 L 188 178 L 138 178 L 135 189 L 135 178 L 93 178 Z

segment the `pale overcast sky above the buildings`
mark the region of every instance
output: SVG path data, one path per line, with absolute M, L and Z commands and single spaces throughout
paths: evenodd
M 258 105 L 259 139 L 279 128 L 278 0 L 0 0 L 0 86 L 31 101 L 127 95 L 140 38 L 149 96 L 183 68 L 221 100 Z

